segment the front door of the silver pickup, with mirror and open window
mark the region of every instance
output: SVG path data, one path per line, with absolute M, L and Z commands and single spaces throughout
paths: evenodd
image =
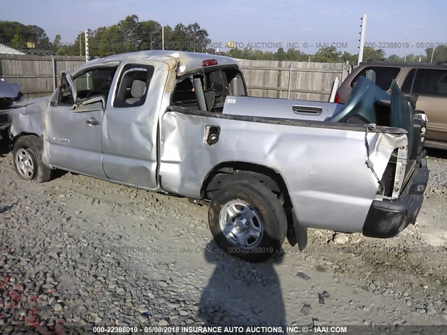
M 74 79 L 63 73 L 45 115 L 44 161 L 56 168 L 106 178 L 101 125 L 116 68 L 94 68 Z

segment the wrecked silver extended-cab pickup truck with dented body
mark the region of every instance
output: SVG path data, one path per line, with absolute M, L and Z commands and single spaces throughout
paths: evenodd
M 305 248 L 307 228 L 384 238 L 414 223 L 429 171 L 412 105 L 366 77 L 345 105 L 251 98 L 234 59 L 144 51 L 16 105 L 10 143 L 24 179 L 58 168 L 209 202 L 217 243 L 257 262 L 286 237 Z

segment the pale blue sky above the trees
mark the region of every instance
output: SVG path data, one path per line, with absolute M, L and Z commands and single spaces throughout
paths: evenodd
M 360 17 L 367 14 L 367 45 L 403 57 L 425 54 L 430 43 L 447 45 L 446 13 L 445 0 L 2 0 L 0 20 L 36 24 L 50 40 L 60 34 L 63 42 L 71 43 L 80 31 L 136 14 L 140 21 L 171 27 L 198 22 L 207 29 L 212 46 L 222 51 L 234 41 L 264 51 L 294 46 L 314 53 L 334 45 L 357 54 Z

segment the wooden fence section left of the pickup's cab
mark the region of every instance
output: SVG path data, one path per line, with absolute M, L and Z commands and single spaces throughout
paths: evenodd
M 54 91 L 62 71 L 73 72 L 84 63 L 80 56 L 0 54 L 0 77 L 23 84 L 24 94 L 44 96 Z

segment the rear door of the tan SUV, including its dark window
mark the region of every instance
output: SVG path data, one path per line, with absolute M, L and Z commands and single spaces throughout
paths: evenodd
M 447 141 L 447 69 L 413 68 L 402 91 L 418 95 L 416 108 L 428 118 L 427 140 Z

